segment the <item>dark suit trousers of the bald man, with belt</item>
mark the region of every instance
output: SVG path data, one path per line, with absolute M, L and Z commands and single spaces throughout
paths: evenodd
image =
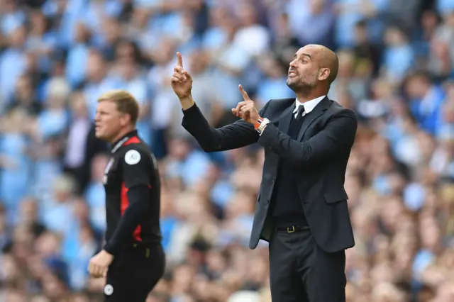
M 272 302 L 345 302 L 345 252 L 321 250 L 309 227 L 270 240 Z

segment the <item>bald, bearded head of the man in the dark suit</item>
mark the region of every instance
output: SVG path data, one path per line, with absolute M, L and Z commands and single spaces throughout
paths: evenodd
M 290 63 L 287 85 L 297 94 L 326 94 L 338 75 L 336 54 L 323 45 L 301 47 Z M 312 92 L 311 92 L 312 91 Z

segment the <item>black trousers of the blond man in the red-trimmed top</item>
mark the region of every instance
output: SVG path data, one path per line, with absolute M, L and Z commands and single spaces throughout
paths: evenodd
M 107 271 L 104 302 L 145 302 L 164 270 L 165 254 L 161 245 L 123 250 Z

